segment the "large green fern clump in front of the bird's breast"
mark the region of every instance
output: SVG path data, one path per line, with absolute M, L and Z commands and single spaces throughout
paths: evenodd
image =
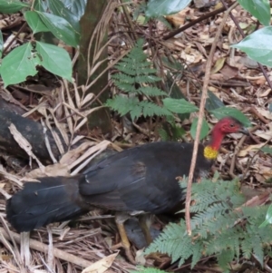
M 182 181 L 181 187 L 185 187 Z M 267 213 L 267 206 L 244 207 L 244 197 L 238 190 L 238 181 L 203 180 L 192 185 L 191 219 L 192 234 L 186 232 L 185 221 L 170 224 L 163 230 L 146 252 L 163 252 L 173 261 L 180 259 L 180 265 L 192 258 L 194 267 L 202 255 L 215 255 L 224 272 L 229 263 L 237 261 L 240 255 L 251 258 L 252 254 L 262 265 L 265 255 L 271 249 L 272 226 L 258 228 Z M 201 205 L 204 197 L 205 205 Z

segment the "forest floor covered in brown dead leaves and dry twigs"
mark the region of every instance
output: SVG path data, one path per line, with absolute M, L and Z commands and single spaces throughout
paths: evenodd
M 224 13 L 217 15 L 212 13 L 219 8 L 221 8 L 219 4 L 205 8 L 189 5 L 179 14 L 166 18 L 171 29 L 155 20 L 149 24 L 143 24 L 143 15 L 138 18 L 137 22 L 133 21 L 130 14 L 133 27 L 131 29 L 131 24 L 128 24 L 121 9 L 117 9 L 112 14 L 109 36 L 116 35 L 118 38 L 113 39 L 109 44 L 109 60 L 112 62 L 113 53 L 116 56 L 116 53 L 120 52 L 121 55 L 124 50 L 131 47 L 130 34 L 145 37 L 147 41 L 151 36 L 155 45 L 152 50 L 147 49 L 146 54 L 150 55 L 151 60 L 157 59 L 160 63 L 162 77 L 167 73 L 174 75 L 170 84 L 176 84 L 180 93 L 189 102 L 194 102 L 199 106 L 201 98 L 199 90 L 203 83 L 209 50 L 211 44 L 217 43 L 209 81 L 209 92 L 216 95 L 217 98 L 211 97 L 210 102 L 220 101 L 237 108 L 247 115 L 252 127 L 250 137 L 242 138 L 241 134 L 233 134 L 227 141 L 224 141 L 214 170 L 219 171 L 226 180 L 243 175 L 242 183 L 245 192 L 248 192 L 248 196 L 254 197 L 259 190 L 266 190 L 263 185 L 272 176 L 271 157 L 258 151 L 260 147 L 271 143 L 272 140 L 272 90 L 258 64 L 250 60 L 246 54 L 230 47 L 231 44 L 236 44 L 241 40 L 237 26 L 230 16 L 228 16 L 219 40 L 215 41 L 215 34 L 223 20 Z M 256 20 L 239 5 L 232 10 L 232 15 L 247 33 L 257 25 Z M 0 25 L 5 39 L 20 29 L 24 23 L 23 17 L 21 13 L 0 16 Z M 195 20 L 199 21 L 193 24 Z M 186 27 L 188 24 L 190 26 Z M 177 30 L 180 27 L 183 27 L 184 30 L 178 33 Z M 15 39 L 13 47 L 30 38 L 29 29 L 26 28 Z M 182 70 L 163 64 L 161 60 L 164 56 L 171 56 L 177 63 L 180 63 Z M 271 81 L 271 69 L 266 67 L 265 71 Z M 112 93 L 116 92 L 116 88 L 110 85 Z M 49 121 L 51 126 L 61 130 L 70 142 L 83 140 L 80 149 L 65 151 L 62 160 L 56 164 L 44 166 L 45 171 L 44 169 L 41 171 L 35 161 L 32 163 L 21 161 L 15 159 L 15 155 L 1 151 L 0 273 L 71 273 L 82 272 L 83 268 L 89 265 L 92 265 L 92 268 L 83 272 L 102 273 L 105 270 L 107 272 L 129 272 L 136 268 L 126 260 L 122 250 L 120 252 L 112 250 L 112 246 L 120 243 L 120 238 L 109 211 L 92 211 L 69 225 L 68 222 L 55 223 L 48 228 L 34 230 L 31 232 L 31 239 L 28 234 L 20 236 L 5 219 L 5 200 L 21 187 L 22 180 L 38 177 L 43 173 L 56 176 L 68 175 L 72 171 L 73 174 L 80 172 L 84 168 L 82 155 L 86 150 L 90 157 L 101 153 L 107 147 L 112 147 L 114 151 L 121 151 L 148 141 L 160 141 L 160 134 L 156 128 L 157 121 L 146 119 L 139 119 L 135 124 L 128 119 L 121 120 L 118 116 L 112 115 L 112 133 L 102 134 L 99 129 L 88 130 L 82 116 L 77 117 L 75 114 L 78 108 L 76 103 L 73 103 L 73 98 L 80 94 L 76 94 L 77 91 L 73 88 L 72 99 L 69 98 L 70 91 L 68 92 L 67 86 L 68 84 L 61 80 L 56 83 L 52 74 L 40 70 L 37 76 L 29 78 L 24 84 L 9 86 L 0 91 L 0 100 L 11 104 L 11 107 L 20 108 L 24 117 L 34 122 Z M 70 106 L 67 107 L 67 104 Z M 185 141 L 193 141 L 189 127 L 196 116 L 197 113 L 191 114 L 189 119 L 180 122 L 186 131 Z M 208 114 L 206 120 L 210 125 L 216 122 L 216 119 Z M 83 126 L 78 127 L 79 129 L 75 131 L 74 129 L 82 121 L 84 121 Z M 235 147 L 238 147 L 238 150 Z M 67 165 L 74 167 L 67 168 Z M 76 171 L 74 171 L 75 166 L 77 166 Z M 157 220 L 152 227 L 154 232 L 160 232 L 164 224 L 163 221 Z M 133 223 L 130 223 L 127 229 L 134 229 L 130 225 L 133 226 Z M 139 240 L 141 240 L 141 235 L 138 235 L 136 239 L 131 238 L 131 241 L 134 241 L 132 252 L 142 264 L 147 263 L 153 266 L 154 260 L 144 258 L 141 247 L 137 249 L 136 245 Z M 164 261 L 163 265 L 159 265 L 160 268 L 179 271 L 176 265 L 170 266 L 168 258 L 165 258 Z M 182 270 L 185 269 L 191 271 L 189 263 L 187 268 Z M 202 272 L 204 269 L 204 266 L 202 268 L 199 266 L 195 272 Z M 212 272 L 220 272 L 220 268 L 213 268 Z

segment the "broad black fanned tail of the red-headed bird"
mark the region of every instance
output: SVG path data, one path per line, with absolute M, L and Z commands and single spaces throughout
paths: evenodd
M 6 218 L 19 232 L 49 223 L 73 219 L 88 210 L 83 208 L 76 177 L 46 177 L 41 182 L 26 182 L 24 189 L 6 202 Z

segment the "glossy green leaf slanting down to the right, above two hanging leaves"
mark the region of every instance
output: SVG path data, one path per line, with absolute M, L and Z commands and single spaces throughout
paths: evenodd
M 65 44 L 76 47 L 79 44 L 79 34 L 74 32 L 72 25 L 62 17 L 47 13 L 38 13 L 49 30 Z

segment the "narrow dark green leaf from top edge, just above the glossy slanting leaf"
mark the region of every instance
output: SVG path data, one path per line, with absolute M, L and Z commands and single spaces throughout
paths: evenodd
M 50 0 L 48 5 L 53 15 L 60 16 L 67 20 L 67 22 L 72 25 L 73 31 L 80 34 L 80 19 L 76 15 L 73 15 L 73 13 L 67 7 L 65 7 L 61 0 Z

